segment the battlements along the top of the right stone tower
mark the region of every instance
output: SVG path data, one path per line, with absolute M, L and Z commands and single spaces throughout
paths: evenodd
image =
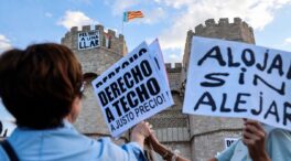
M 195 33 L 201 33 L 201 32 L 208 31 L 208 30 L 216 30 L 218 28 L 225 28 L 225 29 L 229 30 L 229 28 L 236 28 L 238 25 L 249 30 L 249 32 L 252 32 L 252 28 L 249 26 L 240 18 L 234 18 L 234 22 L 233 23 L 229 23 L 229 19 L 228 18 L 220 18 L 218 20 L 218 23 L 216 23 L 214 19 L 208 19 L 208 20 L 205 21 L 205 24 L 198 24 L 195 28 Z

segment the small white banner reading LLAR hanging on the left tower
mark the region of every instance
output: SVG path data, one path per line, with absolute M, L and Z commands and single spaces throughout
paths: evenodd
M 93 30 L 78 33 L 78 50 L 88 50 L 100 46 L 100 31 Z

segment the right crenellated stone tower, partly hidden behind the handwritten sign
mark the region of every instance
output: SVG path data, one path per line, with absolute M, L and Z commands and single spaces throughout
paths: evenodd
M 205 21 L 205 25 L 200 24 L 193 32 L 187 32 L 183 56 L 182 83 L 186 79 L 188 57 L 192 37 L 206 36 L 229 41 L 239 41 L 255 44 L 252 29 L 241 19 L 235 18 L 233 23 L 228 19 L 219 19 L 218 23 L 214 19 Z M 183 88 L 183 87 L 182 87 Z M 182 89 L 183 94 L 184 89 Z M 239 138 L 241 136 L 241 119 L 188 116 L 190 136 L 192 144 L 192 160 L 204 161 L 225 149 L 225 138 Z

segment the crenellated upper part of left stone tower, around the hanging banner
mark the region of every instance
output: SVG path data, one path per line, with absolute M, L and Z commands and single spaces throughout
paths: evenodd
M 100 32 L 100 46 L 78 50 L 78 33 L 93 30 L 98 30 Z M 109 46 L 106 46 L 106 36 L 109 37 Z M 94 28 L 84 25 L 80 30 L 78 30 L 77 26 L 73 26 L 71 31 L 62 37 L 61 42 L 77 54 L 84 73 L 96 73 L 100 75 L 127 53 L 123 35 L 117 35 L 112 30 L 105 31 L 104 26 L 100 24 Z

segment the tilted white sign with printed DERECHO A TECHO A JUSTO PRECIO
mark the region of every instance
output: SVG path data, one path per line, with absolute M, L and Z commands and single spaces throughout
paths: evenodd
M 173 104 L 150 54 L 142 43 L 91 83 L 114 137 Z

